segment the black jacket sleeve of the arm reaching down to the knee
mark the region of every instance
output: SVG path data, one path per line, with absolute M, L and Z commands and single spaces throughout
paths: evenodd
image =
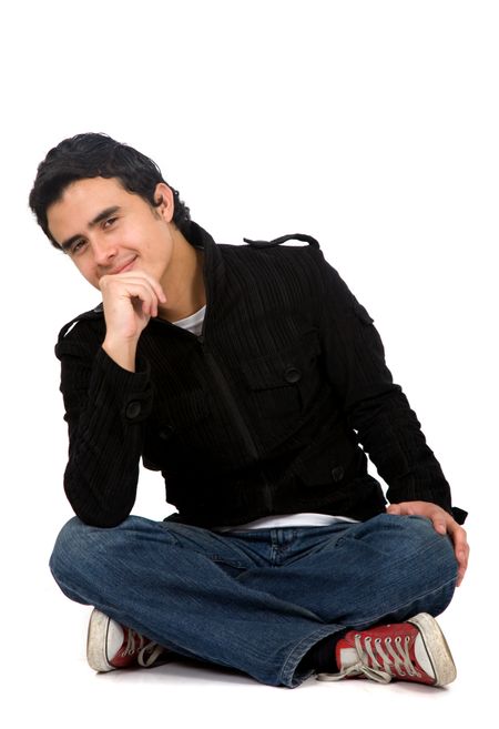
M 313 255 L 320 275 L 327 372 L 348 425 L 388 485 L 387 499 L 431 502 L 462 523 L 466 512 L 451 507 L 449 484 L 416 413 L 393 381 L 374 320 L 320 251 Z

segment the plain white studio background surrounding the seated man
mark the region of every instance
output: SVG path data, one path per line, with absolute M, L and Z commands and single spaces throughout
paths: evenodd
M 0 12 L 2 725 L 464 726 L 492 700 L 497 652 L 498 3 L 21 0 Z M 48 150 L 85 131 L 152 156 L 218 242 L 315 235 L 374 316 L 470 512 L 469 575 L 441 618 L 459 674 L 448 689 L 289 691 L 179 665 L 86 667 L 89 610 L 47 568 L 71 516 L 53 344 L 99 294 L 27 206 Z M 144 474 L 135 512 L 162 518 L 163 497 Z

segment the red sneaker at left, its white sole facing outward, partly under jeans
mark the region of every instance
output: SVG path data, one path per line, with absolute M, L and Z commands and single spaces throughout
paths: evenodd
M 142 666 L 150 668 L 167 652 L 135 630 L 125 628 L 98 610 L 92 611 L 86 639 L 86 659 L 95 671 Z

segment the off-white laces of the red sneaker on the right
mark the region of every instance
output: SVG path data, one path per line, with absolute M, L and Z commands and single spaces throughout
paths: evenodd
M 317 674 L 316 678 L 318 681 L 340 681 L 348 676 L 364 675 L 378 684 L 389 684 L 394 676 L 403 678 L 416 676 L 420 678 L 421 675 L 410 658 L 409 646 L 409 636 L 405 636 L 404 639 L 397 636 L 395 641 L 390 637 L 376 638 L 373 648 L 373 639 L 367 636 L 363 648 L 361 636 L 357 634 L 355 636 L 355 649 L 358 661 L 348 668 L 342 669 L 339 674 Z

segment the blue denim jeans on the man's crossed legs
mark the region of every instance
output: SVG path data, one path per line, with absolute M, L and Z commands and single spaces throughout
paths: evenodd
M 166 648 L 272 686 L 310 675 L 326 636 L 417 612 L 454 594 L 452 546 L 421 517 L 218 534 L 130 516 L 103 529 L 71 519 L 50 563 L 62 591 Z

